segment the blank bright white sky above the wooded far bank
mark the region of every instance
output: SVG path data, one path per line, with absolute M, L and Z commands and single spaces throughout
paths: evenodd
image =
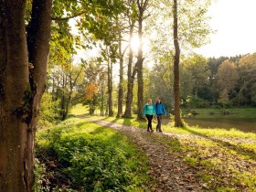
M 256 52 L 256 0 L 216 0 L 208 14 L 216 33 L 197 53 L 231 57 Z

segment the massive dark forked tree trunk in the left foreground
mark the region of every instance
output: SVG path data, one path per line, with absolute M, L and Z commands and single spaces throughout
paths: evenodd
M 33 191 L 37 105 L 46 80 L 51 1 L 33 1 L 27 36 L 25 4 L 0 3 L 0 191 L 5 192 Z

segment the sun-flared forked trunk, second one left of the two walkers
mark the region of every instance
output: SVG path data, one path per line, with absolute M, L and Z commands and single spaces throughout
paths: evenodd
M 136 68 L 133 69 L 133 48 L 132 48 L 132 39 L 133 39 L 133 27 L 134 22 L 130 25 L 130 45 L 129 45 L 129 60 L 128 60 L 128 71 L 127 71 L 127 95 L 126 95 L 126 103 L 125 103 L 125 112 L 123 117 L 132 118 L 132 103 L 133 103 L 133 82 L 136 73 Z

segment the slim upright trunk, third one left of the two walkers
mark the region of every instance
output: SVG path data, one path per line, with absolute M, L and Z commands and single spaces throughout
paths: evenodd
M 122 54 L 122 41 L 121 41 L 121 32 L 119 34 L 119 62 L 120 62 L 120 69 L 119 69 L 119 90 L 118 90 L 118 111 L 117 117 L 121 117 L 123 114 L 123 54 Z

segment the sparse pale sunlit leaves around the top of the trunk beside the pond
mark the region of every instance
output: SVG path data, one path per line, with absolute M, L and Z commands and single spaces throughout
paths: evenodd
M 160 3 L 161 2 L 161 3 Z M 173 45 L 173 1 L 156 1 L 149 28 L 157 37 L 153 45 L 158 53 L 172 53 Z M 211 1 L 178 1 L 178 40 L 180 47 L 185 50 L 199 48 L 208 43 L 208 37 L 213 33 L 209 27 L 210 17 L 207 15 Z M 164 21 L 164 22 L 163 22 Z M 183 51 L 182 51 L 183 52 Z M 159 54 L 158 54 L 159 55 Z

